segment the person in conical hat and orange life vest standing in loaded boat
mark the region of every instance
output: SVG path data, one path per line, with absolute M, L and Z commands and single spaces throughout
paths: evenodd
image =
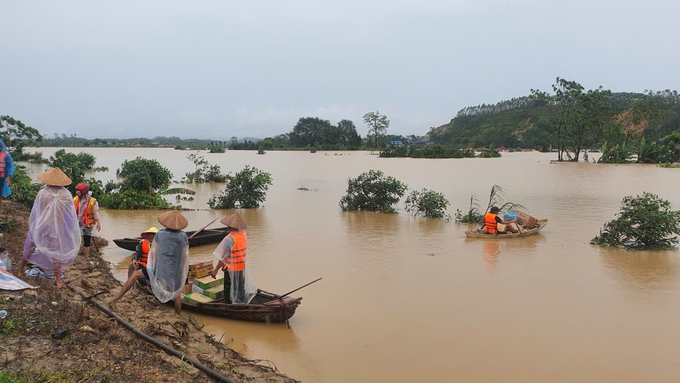
M 229 227 L 231 232 L 213 252 L 218 262 L 210 275 L 215 278 L 219 269 L 224 271 L 225 303 L 250 303 L 257 295 L 257 288 L 246 262 L 248 247 L 246 224 L 238 213 L 227 216 L 220 222 Z

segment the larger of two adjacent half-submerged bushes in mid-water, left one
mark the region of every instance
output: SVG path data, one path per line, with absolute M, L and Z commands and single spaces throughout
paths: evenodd
M 347 194 L 340 199 L 342 210 L 396 213 L 396 205 L 406 191 L 406 184 L 379 170 L 369 170 L 347 180 Z

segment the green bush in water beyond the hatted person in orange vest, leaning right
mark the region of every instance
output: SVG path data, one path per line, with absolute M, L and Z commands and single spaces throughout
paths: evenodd
M 271 185 L 270 173 L 246 166 L 233 176 L 231 173 L 227 174 L 226 188 L 220 194 L 211 197 L 208 205 L 211 209 L 259 207 L 265 201 Z

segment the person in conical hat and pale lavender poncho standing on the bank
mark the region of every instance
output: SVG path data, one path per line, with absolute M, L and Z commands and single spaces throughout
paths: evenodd
M 54 273 L 57 287 L 68 281 L 61 272 L 73 264 L 80 249 L 80 227 L 71 193 L 64 186 L 71 179 L 59 168 L 38 175 L 46 186 L 38 192 L 28 219 L 24 256 L 19 265 L 23 274 L 30 262 L 46 273 Z

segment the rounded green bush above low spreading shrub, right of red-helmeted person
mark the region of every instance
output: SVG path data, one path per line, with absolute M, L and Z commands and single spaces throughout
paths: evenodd
M 121 190 L 135 190 L 155 194 L 159 189 L 167 189 L 172 180 L 172 173 L 157 160 L 137 157 L 125 160 L 116 171 L 118 177 L 125 180 Z

